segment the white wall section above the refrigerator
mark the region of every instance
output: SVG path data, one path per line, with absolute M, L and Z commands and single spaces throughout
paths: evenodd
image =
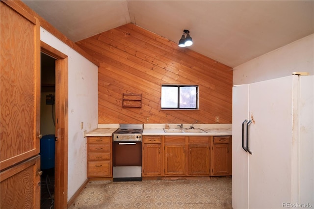
M 233 83 L 237 85 L 281 78 L 296 71 L 314 75 L 314 34 L 236 66 Z

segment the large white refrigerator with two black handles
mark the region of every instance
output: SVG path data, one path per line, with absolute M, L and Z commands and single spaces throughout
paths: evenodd
M 314 207 L 313 98 L 314 76 L 233 87 L 233 209 Z

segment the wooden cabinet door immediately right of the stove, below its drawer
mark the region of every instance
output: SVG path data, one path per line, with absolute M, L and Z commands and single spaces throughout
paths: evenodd
M 143 176 L 161 176 L 162 149 L 161 144 L 144 144 Z

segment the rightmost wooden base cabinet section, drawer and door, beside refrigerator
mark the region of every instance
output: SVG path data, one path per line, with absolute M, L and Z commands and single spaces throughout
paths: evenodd
M 232 175 L 232 137 L 213 136 L 211 176 Z

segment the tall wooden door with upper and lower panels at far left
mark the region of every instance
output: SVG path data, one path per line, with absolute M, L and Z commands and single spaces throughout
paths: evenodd
M 0 206 L 40 208 L 40 24 L 0 2 Z

